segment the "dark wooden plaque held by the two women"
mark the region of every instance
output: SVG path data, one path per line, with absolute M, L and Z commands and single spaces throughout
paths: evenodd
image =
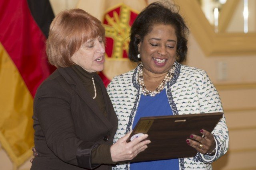
M 202 135 L 200 129 L 212 132 L 223 113 L 200 113 L 189 115 L 170 115 L 141 117 L 132 131 L 131 137 L 138 133 L 148 134 L 151 143 L 130 162 L 185 158 L 196 155 L 197 150 L 186 143 L 190 135 Z

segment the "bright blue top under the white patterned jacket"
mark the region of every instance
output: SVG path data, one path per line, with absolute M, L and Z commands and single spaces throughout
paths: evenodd
M 168 102 L 166 90 L 162 90 L 156 96 L 144 96 L 140 97 L 140 102 L 136 115 L 134 117 L 132 129 L 138 123 L 140 117 L 148 116 L 165 116 L 173 115 L 171 106 Z M 167 159 L 167 160 L 153 160 L 146 162 L 131 162 L 130 170 L 179 170 L 178 159 Z

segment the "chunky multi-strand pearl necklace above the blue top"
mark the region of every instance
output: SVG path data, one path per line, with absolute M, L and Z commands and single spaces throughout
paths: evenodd
M 156 90 L 154 90 L 153 92 L 146 89 L 146 85 L 144 83 L 144 78 L 143 78 L 143 65 L 142 63 L 140 64 L 140 68 L 138 71 L 138 83 L 140 84 L 140 86 L 142 86 L 142 94 L 145 96 L 156 96 L 156 94 L 160 93 L 164 87 L 166 82 L 169 82 L 174 74 L 174 70 L 175 70 L 175 64 L 173 64 L 172 68 L 167 72 L 166 76 L 164 77 L 164 80 L 162 80 L 162 82 L 156 87 Z

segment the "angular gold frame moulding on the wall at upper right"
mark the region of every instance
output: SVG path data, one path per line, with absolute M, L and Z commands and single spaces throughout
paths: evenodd
M 255 55 L 256 54 L 256 33 L 226 33 L 231 16 L 225 14 L 228 19 L 220 20 L 220 32 L 215 33 L 213 26 L 210 25 L 198 0 L 175 0 L 180 6 L 180 12 L 185 18 L 191 33 L 194 35 L 198 44 L 204 51 L 206 56 L 234 56 L 234 55 Z M 237 0 L 233 2 L 227 0 L 222 8 L 222 12 L 226 9 L 233 8 L 238 4 Z M 230 10 L 228 10 L 230 11 Z M 220 18 L 222 16 L 220 12 Z M 222 24 L 224 24 L 222 26 Z

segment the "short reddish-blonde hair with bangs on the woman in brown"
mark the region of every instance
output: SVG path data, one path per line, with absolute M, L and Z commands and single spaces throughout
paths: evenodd
M 58 67 L 74 65 L 71 57 L 83 43 L 102 36 L 105 29 L 100 20 L 81 9 L 64 10 L 50 25 L 46 53 L 50 64 Z

